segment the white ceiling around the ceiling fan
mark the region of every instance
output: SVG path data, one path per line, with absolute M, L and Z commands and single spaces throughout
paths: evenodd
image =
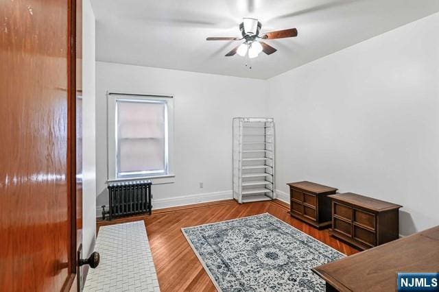
M 267 79 L 439 11 L 438 0 L 92 0 L 97 60 Z M 296 27 L 298 37 L 250 60 L 224 55 L 242 17 L 262 32 Z M 437 36 L 431 36 L 437 37 Z

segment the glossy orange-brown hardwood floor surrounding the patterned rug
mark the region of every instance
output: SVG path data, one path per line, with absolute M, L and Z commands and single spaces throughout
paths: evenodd
M 156 210 L 151 216 L 143 215 L 111 222 L 98 221 L 97 228 L 108 224 L 144 220 L 161 291 L 215 291 L 209 276 L 183 236 L 180 230 L 183 227 L 268 212 L 346 255 L 358 252 L 331 237 L 328 230 L 317 230 L 293 219 L 287 211 L 288 205 L 278 200 L 247 204 L 226 200 Z

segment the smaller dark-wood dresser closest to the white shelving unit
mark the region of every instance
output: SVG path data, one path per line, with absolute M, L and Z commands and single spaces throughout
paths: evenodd
M 290 213 L 316 228 L 331 226 L 331 199 L 337 188 L 313 182 L 292 182 L 289 185 Z

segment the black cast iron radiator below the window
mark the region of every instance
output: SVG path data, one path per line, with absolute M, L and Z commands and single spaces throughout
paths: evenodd
M 148 212 L 151 215 L 151 181 L 108 182 L 110 208 L 108 217 Z

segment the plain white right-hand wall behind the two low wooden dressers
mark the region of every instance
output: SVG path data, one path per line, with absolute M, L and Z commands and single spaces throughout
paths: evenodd
M 439 14 L 268 80 L 277 187 L 310 180 L 439 224 Z

